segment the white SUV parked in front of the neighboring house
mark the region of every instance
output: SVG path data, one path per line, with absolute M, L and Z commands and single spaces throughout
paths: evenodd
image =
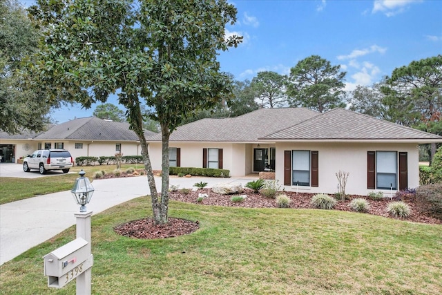
M 74 166 L 74 159 L 69 151 L 64 149 L 39 149 L 23 160 L 23 171 L 39 169 L 40 174 L 48 170 L 61 170 L 63 173 L 68 173 L 72 166 Z

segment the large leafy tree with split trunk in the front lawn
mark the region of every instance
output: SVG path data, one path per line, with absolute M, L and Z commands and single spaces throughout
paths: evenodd
M 37 0 L 31 8 L 44 28 L 37 83 L 53 100 L 90 107 L 118 90 L 119 104 L 140 138 L 153 217 L 168 220 L 169 137 L 194 111 L 213 108 L 231 95 L 220 72 L 218 50 L 237 46 L 225 35 L 236 21 L 227 0 Z M 144 136 L 142 106 L 160 123 L 162 193 L 157 194 Z

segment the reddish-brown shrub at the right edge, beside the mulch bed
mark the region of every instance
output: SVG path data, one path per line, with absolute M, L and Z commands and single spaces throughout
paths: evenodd
M 421 185 L 416 189 L 416 198 L 436 218 L 442 219 L 442 183 Z

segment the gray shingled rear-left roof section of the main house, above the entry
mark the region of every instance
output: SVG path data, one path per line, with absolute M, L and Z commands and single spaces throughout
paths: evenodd
M 227 118 L 206 118 L 178 127 L 170 142 L 258 142 L 287 126 L 292 126 L 317 112 L 307 108 L 260 108 L 259 110 Z M 148 142 L 161 142 L 161 133 L 146 138 Z

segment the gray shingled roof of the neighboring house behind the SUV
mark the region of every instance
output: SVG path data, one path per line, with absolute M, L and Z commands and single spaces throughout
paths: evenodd
M 146 136 L 155 133 L 146 131 Z M 97 117 L 84 117 L 53 126 L 37 135 L 35 140 L 97 140 L 97 141 L 138 141 L 127 122 L 112 122 Z

